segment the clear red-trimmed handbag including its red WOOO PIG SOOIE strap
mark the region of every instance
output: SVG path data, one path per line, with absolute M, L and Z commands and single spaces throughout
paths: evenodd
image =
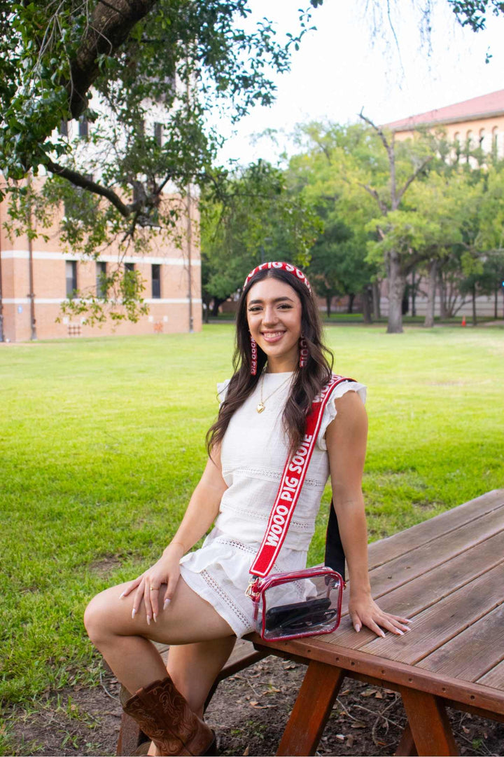
M 274 574 L 271 569 L 289 530 L 323 410 L 333 388 L 346 381 L 352 379 L 333 375 L 315 397 L 307 417 L 305 439 L 295 454 L 287 458 L 261 547 L 250 568 L 252 578 L 246 593 L 254 603 L 255 630 L 266 641 L 330 634 L 339 626 L 345 587 L 339 572 L 326 565 Z

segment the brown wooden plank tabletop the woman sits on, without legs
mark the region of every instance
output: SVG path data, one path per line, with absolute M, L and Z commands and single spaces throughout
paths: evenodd
M 254 642 L 504 721 L 504 489 L 370 544 L 369 568 L 380 607 L 411 618 L 404 637 L 356 634 L 346 591 L 333 634 Z

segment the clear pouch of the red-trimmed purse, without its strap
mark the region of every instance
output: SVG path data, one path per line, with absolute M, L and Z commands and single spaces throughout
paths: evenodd
M 330 634 L 339 626 L 344 587 L 324 565 L 258 578 L 249 590 L 255 630 L 266 641 Z

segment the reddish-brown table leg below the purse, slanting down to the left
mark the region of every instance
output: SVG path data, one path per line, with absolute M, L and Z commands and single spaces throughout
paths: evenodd
M 314 755 L 345 671 L 311 660 L 277 755 Z

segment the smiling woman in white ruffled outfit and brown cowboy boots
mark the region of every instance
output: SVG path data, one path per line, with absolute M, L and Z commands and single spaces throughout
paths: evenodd
M 252 602 L 245 594 L 249 568 L 286 456 L 302 440 L 311 402 L 331 375 L 321 332 L 308 279 L 299 269 L 264 263 L 249 274 L 237 313 L 235 372 L 219 387 L 209 460 L 184 519 L 155 565 L 135 581 L 98 594 L 86 610 L 89 637 L 131 692 L 125 711 L 160 754 L 212 750 L 203 705 L 236 638 L 252 631 Z M 407 619 L 382 612 L 369 588 L 361 492 L 364 397 L 357 382 L 335 388 L 273 572 L 305 567 L 330 471 L 355 631 L 366 625 L 379 636 L 383 629 L 403 634 Z M 214 522 L 203 547 L 188 553 Z M 171 645 L 168 677 L 151 640 Z

